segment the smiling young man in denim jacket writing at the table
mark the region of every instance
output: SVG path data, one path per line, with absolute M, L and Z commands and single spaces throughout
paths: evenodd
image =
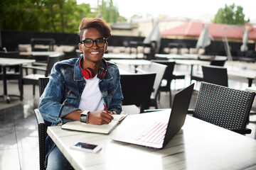
M 78 33 L 82 57 L 56 63 L 40 98 L 38 109 L 52 125 L 72 120 L 108 124 L 112 114 L 121 113 L 119 70 L 115 64 L 102 59 L 110 31 L 110 26 L 100 18 L 82 19 Z M 104 104 L 109 113 L 104 111 Z M 47 169 L 70 168 L 50 137 L 46 139 L 46 148 Z

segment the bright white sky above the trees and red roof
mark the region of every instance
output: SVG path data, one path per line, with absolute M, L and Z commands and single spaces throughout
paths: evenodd
M 78 4 L 86 3 L 92 6 L 97 5 L 101 0 L 77 0 Z M 105 0 L 106 1 L 106 0 Z M 171 17 L 187 17 L 191 19 L 200 19 L 210 21 L 219 8 L 224 8 L 225 4 L 230 6 L 242 6 L 245 19 L 256 21 L 256 2 L 255 0 L 112 0 L 119 8 L 119 14 L 125 18 L 130 18 L 134 14 L 158 17 L 159 15 L 168 15 Z

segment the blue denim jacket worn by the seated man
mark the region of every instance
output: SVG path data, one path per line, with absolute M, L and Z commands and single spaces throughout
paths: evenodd
M 80 110 L 79 104 L 86 81 L 79 67 L 80 58 L 63 60 L 54 64 L 50 74 L 50 81 L 43 92 L 38 109 L 44 120 L 52 125 L 66 123 L 63 117 L 73 111 Z M 107 62 L 107 72 L 104 79 L 99 81 L 103 100 L 109 111 L 122 112 L 122 89 L 120 85 L 119 69 L 112 62 Z M 101 67 L 105 68 L 102 62 Z M 55 144 L 50 137 L 46 139 L 46 157 Z M 47 159 L 46 159 L 47 160 Z

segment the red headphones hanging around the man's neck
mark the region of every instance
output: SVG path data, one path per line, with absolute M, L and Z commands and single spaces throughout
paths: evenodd
M 80 61 L 79 61 L 79 67 L 81 69 L 83 77 L 85 77 L 85 79 L 92 79 L 92 77 L 95 76 L 93 70 L 91 68 L 89 68 L 89 67 L 86 68 L 86 69 L 82 69 L 82 67 L 81 67 L 81 62 L 82 61 L 83 61 L 83 57 L 81 57 Z M 105 64 L 106 69 L 103 69 L 102 67 L 100 67 L 100 70 L 99 70 L 99 72 L 97 74 L 97 78 L 99 78 L 99 79 L 104 79 L 105 74 L 107 73 L 107 62 L 104 59 L 102 59 L 102 62 Z

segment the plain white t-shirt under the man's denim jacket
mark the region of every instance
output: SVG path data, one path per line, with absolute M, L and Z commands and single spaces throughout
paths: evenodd
M 104 110 L 103 98 L 100 92 L 100 79 L 92 77 L 92 79 L 85 79 L 85 89 L 82 91 L 79 108 L 81 111 L 102 111 Z

